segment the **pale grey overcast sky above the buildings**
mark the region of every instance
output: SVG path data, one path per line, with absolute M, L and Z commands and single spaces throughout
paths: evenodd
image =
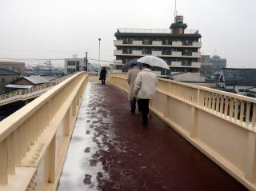
M 177 0 L 188 29 L 202 34 L 202 54 L 216 50 L 228 67 L 256 67 L 255 7 L 255 0 Z M 112 61 L 118 27 L 166 29 L 173 21 L 174 0 L 1 0 L 0 58 L 82 58 L 88 50 L 98 59 L 102 38 L 101 58 Z

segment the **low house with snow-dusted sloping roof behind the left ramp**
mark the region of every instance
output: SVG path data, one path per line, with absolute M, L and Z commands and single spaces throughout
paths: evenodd
M 11 92 L 14 90 L 29 89 L 33 86 L 38 86 L 45 83 L 49 83 L 49 81 L 46 80 L 46 78 L 42 78 L 41 76 L 22 76 L 14 82 L 6 85 L 6 89 L 8 92 Z

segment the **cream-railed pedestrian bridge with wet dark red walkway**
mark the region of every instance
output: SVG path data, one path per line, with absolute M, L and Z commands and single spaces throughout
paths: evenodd
M 0 122 L 0 190 L 256 190 L 254 98 L 159 79 L 142 129 L 126 74 L 89 81 L 75 74 Z

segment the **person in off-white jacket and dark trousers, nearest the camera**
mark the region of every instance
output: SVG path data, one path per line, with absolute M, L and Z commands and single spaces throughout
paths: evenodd
M 157 76 L 150 70 L 150 65 L 142 64 L 142 71 L 134 82 L 134 96 L 140 105 L 143 126 L 148 125 L 149 103 L 150 99 L 154 98 L 155 86 L 158 86 Z

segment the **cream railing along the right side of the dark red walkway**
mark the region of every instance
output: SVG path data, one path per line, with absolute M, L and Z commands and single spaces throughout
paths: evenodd
M 250 190 L 256 190 L 256 99 L 158 78 L 150 109 Z M 127 91 L 126 74 L 110 83 Z

